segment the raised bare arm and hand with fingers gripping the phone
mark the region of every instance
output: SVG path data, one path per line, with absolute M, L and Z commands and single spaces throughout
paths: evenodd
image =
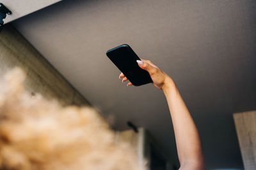
M 180 170 L 205 170 L 205 159 L 202 145 L 195 122 L 189 113 L 186 104 L 180 96 L 175 82 L 150 60 L 141 59 L 138 65 L 150 74 L 153 85 L 164 92 L 172 117 L 175 141 L 180 161 Z M 123 73 L 119 78 L 127 81 Z M 127 86 L 131 86 L 129 82 Z

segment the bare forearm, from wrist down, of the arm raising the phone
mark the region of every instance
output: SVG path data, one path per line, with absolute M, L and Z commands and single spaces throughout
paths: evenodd
M 187 165 L 205 169 L 204 154 L 195 122 L 172 78 L 166 79 L 163 92 L 172 117 L 181 169 Z

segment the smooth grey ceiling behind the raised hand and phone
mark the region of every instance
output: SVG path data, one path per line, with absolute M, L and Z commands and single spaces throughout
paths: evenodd
M 176 81 L 207 166 L 242 168 L 232 113 L 256 109 L 256 1 L 61 1 L 15 21 L 19 31 L 115 129 L 146 127 L 177 162 L 161 90 L 125 87 L 106 57 L 127 43 Z

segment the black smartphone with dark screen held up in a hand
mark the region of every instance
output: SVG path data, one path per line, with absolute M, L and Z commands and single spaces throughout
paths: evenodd
M 136 60 L 140 58 L 129 45 L 116 46 L 108 50 L 107 56 L 131 81 L 132 85 L 140 86 L 153 82 L 149 73 L 138 66 Z

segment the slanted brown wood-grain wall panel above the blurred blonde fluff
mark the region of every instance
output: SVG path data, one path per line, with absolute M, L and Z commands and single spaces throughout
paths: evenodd
M 27 74 L 26 89 L 63 105 L 88 105 L 88 101 L 10 24 L 0 30 L 0 76 L 13 67 Z

